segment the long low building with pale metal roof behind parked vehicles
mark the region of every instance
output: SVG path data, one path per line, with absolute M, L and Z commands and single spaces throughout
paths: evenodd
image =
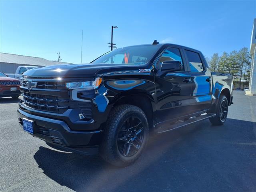
M 30 57 L 9 53 L 0 53 L 0 71 L 3 73 L 15 73 L 18 66 L 50 66 L 70 64 L 65 62 L 49 61 L 40 57 Z

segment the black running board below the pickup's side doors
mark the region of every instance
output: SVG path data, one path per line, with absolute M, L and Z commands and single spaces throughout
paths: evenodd
M 179 121 L 174 122 L 173 124 L 170 124 L 170 127 L 168 127 L 168 128 L 161 128 L 160 127 L 158 129 L 156 129 L 156 133 L 157 134 L 158 133 L 164 133 L 164 132 L 174 130 L 174 129 L 177 129 L 177 128 L 181 128 L 181 127 L 184 127 L 184 126 L 187 126 L 187 125 L 190 125 L 190 124 L 193 124 L 193 123 L 196 123 L 198 121 L 202 121 L 202 120 L 214 117 L 214 116 L 216 116 L 216 114 L 209 113 L 209 114 L 203 114 L 203 115 L 200 115 L 200 116 L 190 117 L 188 120 L 179 120 Z

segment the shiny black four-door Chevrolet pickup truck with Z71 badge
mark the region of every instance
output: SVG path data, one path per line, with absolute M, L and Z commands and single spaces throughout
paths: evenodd
M 54 148 L 99 153 L 127 166 L 151 134 L 205 119 L 223 124 L 232 88 L 232 75 L 210 72 L 200 51 L 154 41 L 107 52 L 90 64 L 28 70 L 18 122 Z

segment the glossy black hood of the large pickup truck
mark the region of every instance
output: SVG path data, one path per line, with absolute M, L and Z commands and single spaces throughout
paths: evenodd
M 34 68 L 23 75 L 34 78 L 92 78 L 96 74 L 115 70 L 136 70 L 140 68 L 134 65 L 120 64 L 63 64 Z

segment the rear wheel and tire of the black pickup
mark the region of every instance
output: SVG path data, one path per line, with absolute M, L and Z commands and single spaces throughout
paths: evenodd
M 228 116 L 228 99 L 224 95 L 220 95 L 216 108 L 216 116 L 210 118 L 213 125 L 222 125 L 226 122 Z

